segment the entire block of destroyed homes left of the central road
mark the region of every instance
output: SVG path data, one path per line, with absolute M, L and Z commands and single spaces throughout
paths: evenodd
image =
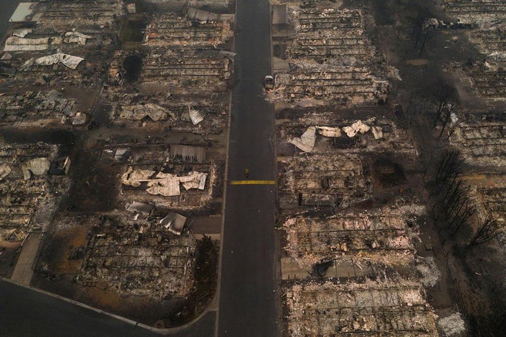
M 0 52 L 0 275 L 159 327 L 214 295 L 235 55 L 167 5 L 22 3 Z

